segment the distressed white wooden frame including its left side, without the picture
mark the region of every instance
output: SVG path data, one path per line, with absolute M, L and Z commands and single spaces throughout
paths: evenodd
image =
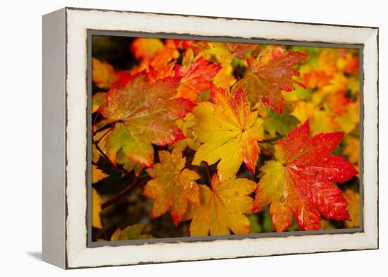
M 87 30 L 363 46 L 363 226 L 357 233 L 87 245 Z M 378 29 L 63 8 L 43 18 L 43 259 L 66 269 L 378 247 Z M 286 246 L 286 247 L 285 247 Z

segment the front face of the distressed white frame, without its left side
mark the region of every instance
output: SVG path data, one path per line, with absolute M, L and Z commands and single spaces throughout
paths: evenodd
M 177 24 L 178 23 L 178 24 Z M 87 247 L 87 30 L 181 33 L 339 44 L 363 44 L 364 226 L 363 233 L 244 238 L 214 242 Z M 377 37 L 370 27 L 310 25 L 260 20 L 169 16 L 66 8 L 66 267 L 94 267 L 274 254 L 364 250 L 378 247 Z M 375 151 L 374 151 L 375 150 Z M 47 197 L 44 196 L 44 197 Z M 287 245 L 285 248 L 284 245 Z

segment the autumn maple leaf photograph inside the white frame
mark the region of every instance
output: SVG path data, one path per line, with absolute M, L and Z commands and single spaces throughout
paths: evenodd
M 360 226 L 358 49 L 91 45 L 92 241 Z

